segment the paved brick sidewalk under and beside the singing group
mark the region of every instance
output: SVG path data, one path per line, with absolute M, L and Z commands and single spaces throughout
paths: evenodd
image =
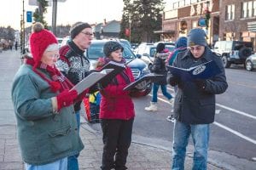
M 24 169 L 10 96 L 12 80 L 19 66 L 19 51 L 3 51 L 0 54 L 0 170 Z M 102 159 L 102 134 L 93 130 L 90 124 L 83 120 L 80 135 L 85 146 L 79 156 L 80 169 L 99 170 Z M 133 141 L 126 166 L 131 170 L 167 170 L 172 162 L 171 155 L 169 150 Z M 193 158 L 188 155 L 185 169 L 191 169 L 192 161 Z M 207 167 L 209 170 L 222 169 L 210 162 Z

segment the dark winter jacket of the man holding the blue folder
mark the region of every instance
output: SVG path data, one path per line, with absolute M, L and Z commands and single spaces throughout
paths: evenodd
M 205 88 L 200 88 L 194 81 L 180 82 L 174 102 L 174 116 L 180 122 L 188 124 L 208 124 L 214 122 L 215 94 L 223 94 L 228 88 L 224 66 L 217 54 L 206 47 L 200 59 L 194 58 L 189 49 L 177 54 L 173 65 L 189 68 L 213 60 L 221 69 L 217 76 L 206 80 Z

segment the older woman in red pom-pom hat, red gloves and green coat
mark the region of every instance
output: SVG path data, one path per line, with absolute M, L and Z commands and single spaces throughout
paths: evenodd
M 67 156 L 84 148 L 73 116 L 78 93 L 55 67 L 56 37 L 41 23 L 32 28 L 32 58 L 20 66 L 11 90 L 21 156 L 26 170 L 67 170 Z

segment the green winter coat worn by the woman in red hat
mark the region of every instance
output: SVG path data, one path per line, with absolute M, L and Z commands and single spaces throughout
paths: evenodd
M 46 77 L 49 75 L 44 73 Z M 79 138 L 73 105 L 53 113 L 48 82 L 21 65 L 12 87 L 12 100 L 17 119 L 18 139 L 23 160 L 32 165 L 44 165 L 78 154 L 84 144 Z

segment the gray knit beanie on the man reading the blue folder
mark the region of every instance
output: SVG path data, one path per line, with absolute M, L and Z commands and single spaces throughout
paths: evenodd
M 207 34 L 201 28 L 194 28 L 188 34 L 188 47 L 194 45 L 207 46 Z

